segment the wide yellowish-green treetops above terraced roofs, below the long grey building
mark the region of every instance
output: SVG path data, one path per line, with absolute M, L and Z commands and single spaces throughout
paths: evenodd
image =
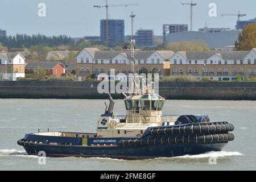
M 210 51 L 209 46 L 201 41 L 183 41 L 183 42 L 174 42 L 167 44 L 165 46 L 166 50 L 170 51 Z

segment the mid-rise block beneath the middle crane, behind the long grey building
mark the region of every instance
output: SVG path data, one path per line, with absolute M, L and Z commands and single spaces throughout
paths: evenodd
M 185 31 L 188 31 L 188 24 L 163 24 L 163 42 L 166 42 L 167 34 Z

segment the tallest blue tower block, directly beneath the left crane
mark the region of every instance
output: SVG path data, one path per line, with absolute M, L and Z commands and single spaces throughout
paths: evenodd
M 125 38 L 125 20 L 109 19 L 109 42 L 123 41 Z M 106 41 L 106 20 L 102 19 L 100 23 L 100 36 L 102 41 Z

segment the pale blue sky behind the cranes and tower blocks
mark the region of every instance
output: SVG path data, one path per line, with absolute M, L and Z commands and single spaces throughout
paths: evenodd
M 153 29 L 155 35 L 162 35 L 163 24 L 181 23 L 189 25 L 189 6 L 181 2 L 190 0 L 109 0 L 109 5 L 138 4 L 138 6 L 109 7 L 110 19 L 125 20 L 125 35 L 131 32 L 130 14 L 133 11 L 134 30 Z M 193 30 L 208 27 L 234 29 L 237 16 L 221 14 L 247 14 L 241 20 L 256 17 L 255 0 L 193 0 L 197 6 L 193 9 Z M 38 16 L 39 3 L 45 3 L 46 16 Z M 209 4 L 215 3 L 217 16 L 210 17 Z M 0 29 L 7 35 L 44 34 L 68 35 L 79 38 L 85 35 L 100 35 L 100 19 L 105 19 L 105 7 L 93 8 L 93 5 L 105 5 L 105 0 L 0 0 Z

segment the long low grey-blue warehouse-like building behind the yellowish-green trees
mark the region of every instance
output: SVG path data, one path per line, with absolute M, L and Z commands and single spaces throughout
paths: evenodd
M 218 47 L 218 46 L 230 46 L 238 39 L 240 31 L 222 31 L 216 33 L 209 32 L 196 32 L 196 31 L 187 31 L 187 32 L 176 32 L 166 35 L 167 43 L 182 42 L 182 41 L 198 41 L 205 42 L 209 47 Z

